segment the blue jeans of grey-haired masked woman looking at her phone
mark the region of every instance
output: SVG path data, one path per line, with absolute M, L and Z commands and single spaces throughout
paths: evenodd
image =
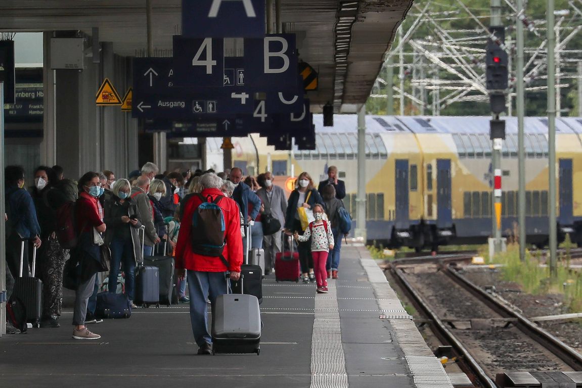
M 119 266 L 123 264 L 123 272 L 125 272 L 125 294 L 129 300 L 133 300 L 134 290 L 134 269 L 136 268 L 136 261 L 133 258 L 133 243 L 131 237 L 129 239 L 113 239 L 111 244 L 111 265 L 109 269 L 109 291 L 115 292 L 117 289 L 117 277 L 119 275 Z

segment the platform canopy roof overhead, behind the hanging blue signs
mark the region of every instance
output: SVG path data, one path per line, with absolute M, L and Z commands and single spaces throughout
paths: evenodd
M 275 0 L 273 0 L 275 3 Z M 300 59 L 319 73 L 311 109 L 363 104 L 411 0 L 281 0 L 282 32 L 297 34 Z M 182 0 L 151 0 L 155 56 L 170 56 L 182 30 Z M 116 54 L 144 56 L 146 0 L 2 0 L 0 32 L 80 31 L 94 27 Z M 347 45 L 346 45 L 347 44 Z

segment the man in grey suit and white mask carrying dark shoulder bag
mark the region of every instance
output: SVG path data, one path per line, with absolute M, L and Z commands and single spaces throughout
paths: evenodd
M 265 205 L 265 213 L 271 213 L 278 219 L 281 222 L 281 230 L 283 230 L 285 212 L 287 211 L 285 191 L 281 187 L 273 185 L 273 175 L 270 172 L 257 176 L 257 183 L 261 186 L 257 190 L 257 195 Z M 281 230 L 262 238 L 262 247 L 265 250 L 265 275 L 272 272 L 275 265 L 275 255 L 283 248 Z

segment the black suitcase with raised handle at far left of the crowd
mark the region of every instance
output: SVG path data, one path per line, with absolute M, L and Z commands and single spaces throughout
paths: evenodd
M 26 322 L 32 323 L 33 327 L 38 328 L 40 327 L 40 316 L 42 312 L 42 281 L 34 277 L 36 275 L 37 248 L 34 247 L 33 250 L 32 277 L 22 277 L 25 248 L 26 242 L 22 240 L 20 243 L 20 276 L 14 279 L 12 296 L 22 301 L 26 309 Z M 26 263 L 26 268 L 28 268 L 28 263 Z

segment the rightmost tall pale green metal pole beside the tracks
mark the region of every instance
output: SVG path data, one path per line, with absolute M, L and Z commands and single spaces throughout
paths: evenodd
M 556 35 L 553 29 L 554 1 L 548 0 L 546 6 L 546 25 L 548 34 L 548 147 L 549 147 L 549 272 L 557 275 L 558 227 L 556 226 L 556 80 L 555 48 Z

